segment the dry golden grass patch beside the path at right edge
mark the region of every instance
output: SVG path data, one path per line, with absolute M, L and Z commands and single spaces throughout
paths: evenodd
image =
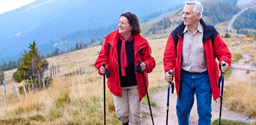
M 224 104 L 232 111 L 256 117 L 256 72 L 250 78 L 252 83 L 239 82 L 225 86 Z

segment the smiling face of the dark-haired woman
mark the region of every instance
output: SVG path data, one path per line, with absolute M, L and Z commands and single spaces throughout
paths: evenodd
M 126 17 L 120 17 L 118 28 L 118 33 L 120 33 L 123 37 L 127 38 L 131 35 L 131 25 Z

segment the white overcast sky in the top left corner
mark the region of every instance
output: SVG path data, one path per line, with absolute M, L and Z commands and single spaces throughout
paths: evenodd
M 19 8 L 36 0 L 0 0 L 0 14 Z

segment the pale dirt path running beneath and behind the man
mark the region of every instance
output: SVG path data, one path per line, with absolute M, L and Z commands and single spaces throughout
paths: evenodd
M 252 59 L 252 56 L 249 55 L 242 55 L 242 59 L 240 59 L 239 62 L 232 64 L 232 73 L 229 77 L 229 82 L 232 79 L 236 81 L 247 81 L 250 74 L 254 73 L 254 70 L 256 66 L 254 66 L 251 63 L 246 63 L 250 59 Z M 245 64 L 246 63 L 246 64 Z M 247 74 L 247 71 L 250 70 L 249 74 Z M 228 82 L 226 80 L 226 82 Z M 167 85 L 166 85 L 167 86 Z M 167 103 L 167 88 L 156 90 L 153 93 L 149 94 L 149 97 L 156 103 L 156 106 L 151 106 L 152 112 L 153 112 L 153 118 L 154 118 L 154 124 L 161 125 L 166 124 L 166 103 Z M 169 99 L 169 117 L 168 117 L 168 124 L 178 124 L 178 119 L 176 116 L 176 100 L 177 96 L 176 93 L 170 94 Z M 225 100 L 224 100 L 225 101 Z M 212 121 L 219 118 L 219 102 L 216 103 L 216 101 L 212 101 Z M 146 118 L 143 118 L 143 124 L 152 124 L 150 112 L 148 108 L 148 103 L 142 105 L 142 113 L 146 114 Z M 197 115 L 197 108 L 196 108 L 196 98 L 194 101 L 193 108 L 191 110 L 190 114 L 190 123 L 191 124 L 198 124 L 198 115 Z M 224 107 L 222 110 L 222 119 L 229 119 L 232 121 L 239 121 L 239 122 L 247 122 L 247 123 L 253 123 L 256 122 L 256 119 L 248 119 L 247 116 L 235 113 L 234 111 L 229 111 L 227 108 Z

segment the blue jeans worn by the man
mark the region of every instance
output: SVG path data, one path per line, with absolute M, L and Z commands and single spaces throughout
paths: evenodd
M 196 93 L 198 124 L 211 124 L 212 92 L 209 75 L 206 72 L 192 73 L 181 71 L 181 85 L 177 99 L 176 114 L 180 125 L 189 124 L 189 114 L 194 104 Z

